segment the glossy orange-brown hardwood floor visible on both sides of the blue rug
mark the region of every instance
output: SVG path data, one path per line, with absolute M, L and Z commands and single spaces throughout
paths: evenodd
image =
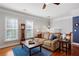
M 16 46 L 11 46 L 11 47 L 7 47 L 7 48 L 2 48 L 0 49 L 0 56 L 14 56 L 13 54 L 13 51 L 12 51 L 12 48 L 14 48 Z M 79 55 L 79 46 L 76 47 L 76 45 L 72 45 L 72 53 L 71 53 L 71 50 L 69 50 L 66 54 L 66 52 L 63 52 L 63 51 L 55 51 L 55 52 L 52 52 L 51 56 L 73 56 L 73 55 Z

